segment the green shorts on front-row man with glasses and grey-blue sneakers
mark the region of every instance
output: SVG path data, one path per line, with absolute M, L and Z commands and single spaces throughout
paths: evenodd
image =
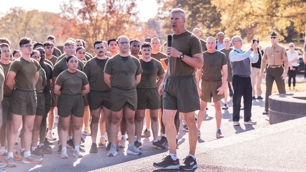
M 110 105 L 113 112 L 119 112 L 124 106 L 132 111 L 137 109 L 137 91 L 136 88 L 131 90 L 122 90 L 112 87 L 110 90 Z

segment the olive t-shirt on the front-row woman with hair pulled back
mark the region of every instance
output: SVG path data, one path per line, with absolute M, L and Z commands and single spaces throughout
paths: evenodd
M 62 94 L 76 95 L 82 93 L 82 86 L 88 84 L 88 79 L 82 71 L 71 73 L 65 70 L 58 75 L 55 84 L 62 87 Z

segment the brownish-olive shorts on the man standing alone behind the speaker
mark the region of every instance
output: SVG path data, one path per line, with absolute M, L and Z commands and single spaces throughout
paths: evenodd
M 224 98 L 224 93 L 217 95 L 219 91 L 218 88 L 222 86 L 222 80 L 219 81 L 204 81 L 201 82 L 202 95 L 200 99 L 211 103 L 211 98 L 214 102 L 219 101 Z

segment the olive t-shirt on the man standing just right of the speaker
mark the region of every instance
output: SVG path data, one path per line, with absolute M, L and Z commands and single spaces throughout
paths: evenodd
M 203 68 L 202 80 L 205 81 L 219 81 L 222 80 L 222 66 L 227 64 L 226 56 L 220 51 L 214 53 L 203 53 Z

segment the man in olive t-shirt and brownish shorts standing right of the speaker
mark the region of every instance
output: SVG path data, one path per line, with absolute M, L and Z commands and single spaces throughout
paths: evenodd
M 217 122 L 216 137 L 219 139 L 224 137 L 220 130 L 222 119 L 221 99 L 224 98 L 224 88 L 227 84 L 227 60 L 224 53 L 216 50 L 217 45 L 214 37 L 209 36 L 206 42 L 207 51 L 203 53 L 203 68 L 198 70 L 196 74 L 201 99 L 201 110 L 198 114 L 198 137 L 201 136 L 200 127 L 204 119 L 207 102 L 211 102 L 211 98 L 213 98 Z M 202 80 L 201 87 L 200 80 Z

